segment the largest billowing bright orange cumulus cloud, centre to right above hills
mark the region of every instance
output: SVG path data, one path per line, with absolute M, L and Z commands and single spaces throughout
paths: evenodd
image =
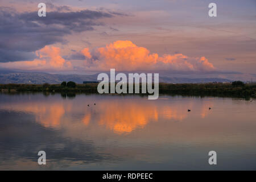
M 86 49 L 88 53 L 88 49 Z M 86 56 L 86 55 L 85 55 Z M 138 47 L 129 40 L 118 40 L 92 52 L 92 59 L 86 59 L 85 67 L 95 70 L 117 71 L 214 71 L 208 59 L 188 57 L 182 53 L 159 56 L 147 48 Z M 88 57 L 89 58 L 89 57 Z

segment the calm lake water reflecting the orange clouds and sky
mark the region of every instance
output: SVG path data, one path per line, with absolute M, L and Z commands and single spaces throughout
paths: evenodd
M 256 169 L 255 111 L 237 98 L 0 94 L 0 169 Z

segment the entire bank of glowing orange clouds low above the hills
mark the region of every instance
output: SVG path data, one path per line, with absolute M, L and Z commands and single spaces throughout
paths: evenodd
M 159 56 L 158 53 L 150 53 L 147 48 L 139 47 L 129 40 L 117 40 L 91 52 L 89 48 L 84 48 L 63 57 L 60 52 L 58 47 L 45 46 L 35 52 L 37 58 L 33 61 L 0 63 L 0 67 L 40 71 L 109 71 L 110 68 L 117 71 L 216 71 L 204 56 L 188 57 L 182 53 Z

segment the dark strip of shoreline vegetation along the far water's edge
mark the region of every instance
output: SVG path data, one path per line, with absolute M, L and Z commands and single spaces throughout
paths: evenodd
M 76 94 L 98 94 L 98 83 L 88 82 L 76 84 L 75 82 L 62 82 L 61 84 L 0 84 L 1 93 L 43 92 Z M 128 86 L 128 85 L 127 85 Z M 141 92 L 141 84 L 140 84 Z M 110 93 L 110 92 L 109 92 Z M 167 84 L 159 83 L 159 94 L 181 96 L 217 96 L 256 98 L 256 83 L 243 84 L 241 81 L 232 83 L 204 83 L 204 84 Z M 126 94 L 122 94 L 126 95 Z M 145 94 L 142 94 L 145 95 Z

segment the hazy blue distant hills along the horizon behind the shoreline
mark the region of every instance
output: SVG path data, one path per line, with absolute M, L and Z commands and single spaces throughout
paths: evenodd
M 82 84 L 84 81 L 97 81 L 97 75 L 60 75 L 36 72 L 0 71 L 0 84 L 60 84 L 62 81 L 74 81 Z M 199 83 L 199 82 L 230 82 L 225 78 L 183 78 L 159 77 L 159 82 L 166 83 Z

